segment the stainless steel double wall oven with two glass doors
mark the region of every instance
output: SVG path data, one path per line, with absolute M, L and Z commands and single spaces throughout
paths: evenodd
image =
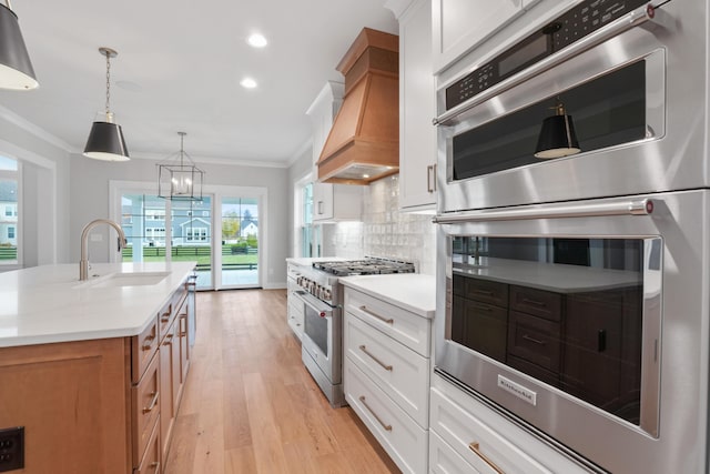
M 590 471 L 699 473 L 708 9 L 652 3 L 577 2 L 439 81 L 435 371 Z M 536 158 L 559 104 L 578 150 Z

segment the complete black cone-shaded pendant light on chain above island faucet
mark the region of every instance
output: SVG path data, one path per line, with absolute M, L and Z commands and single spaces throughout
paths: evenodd
M 111 48 L 99 48 L 101 56 L 106 58 L 106 111 L 105 121 L 95 121 L 91 125 L 89 140 L 84 148 L 84 157 L 103 161 L 128 161 L 130 160 L 129 151 L 123 140 L 123 131 L 121 125 L 113 123 L 113 113 L 109 109 L 111 99 L 111 58 L 115 58 L 119 53 Z

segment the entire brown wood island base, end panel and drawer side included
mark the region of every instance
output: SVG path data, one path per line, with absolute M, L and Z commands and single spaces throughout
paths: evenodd
M 185 296 L 135 336 L 0 347 L 0 427 L 24 426 L 22 473 L 162 472 L 161 420 L 174 421 L 189 367 Z

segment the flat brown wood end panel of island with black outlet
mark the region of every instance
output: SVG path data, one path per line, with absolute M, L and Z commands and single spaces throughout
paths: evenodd
M 0 426 L 24 426 L 27 474 L 131 472 L 130 344 L 0 349 Z

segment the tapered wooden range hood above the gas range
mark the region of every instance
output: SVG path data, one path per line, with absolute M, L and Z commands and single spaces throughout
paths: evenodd
M 318 181 L 368 184 L 398 172 L 398 39 L 365 28 L 338 63 L 345 95 L 316 163 Z

